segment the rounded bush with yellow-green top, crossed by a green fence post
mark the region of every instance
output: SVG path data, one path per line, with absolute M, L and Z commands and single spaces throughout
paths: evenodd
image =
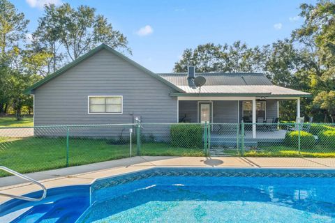
M 299 131 L 288 132 L 285 135 L 285 145 L 298 148 Z M 315 138 L 313 134 L 300 131 L 300 148 L 313 148 Z

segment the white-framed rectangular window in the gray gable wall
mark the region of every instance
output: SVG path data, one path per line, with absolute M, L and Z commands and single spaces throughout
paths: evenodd
M 122 101 L 120 95 L 89 96 L 89 114 L 122 114 Z

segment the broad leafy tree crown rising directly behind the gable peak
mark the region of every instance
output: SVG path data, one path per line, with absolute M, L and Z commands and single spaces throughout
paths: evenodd
M 46 49 L 52 54 L 48 72 L 54 72 L 64 56 L 74 61 L 99 43 L 131 52 L 126 36 L 114 30 L 103 15 L 96 15 L 95 8 L 83 5 L 76 9 L 69 3 L 59 7 L 53 4 L 45 6 L 45 14 L 38 20 L 33 38 L 31 47 L 37 51 Z M 60 52 L 62 47 L 66 54 Z

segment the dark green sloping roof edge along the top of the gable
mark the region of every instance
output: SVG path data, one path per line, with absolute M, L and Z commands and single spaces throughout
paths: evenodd
M 142 70 L 143 72 L 146 72 L 148 75 L 151 75 L 152 77 L 158 79 L 159 81 L 163 82 L 164 84 L 170 86 L 172 89 L 179 91 L 179 92 L 185 92 L 181 89 L 179 89 L 178 86 L 172 84 L 171 82 L 168 82 L 168 80 L 164 79 L 163 77 L 156 75 L 154 72 L 151 72 L 150 70 L 148 70 L 147 68 L 144 68 L 143 66 L 141 66 L 140 64 L 136 63 L 135 61 L 129 59 L 127 56 L 124 56 L 123 54 L 117 52 L 116 50 L 112 49 L 111 47 L 105 45 L 104 43 L 99 45 L 98 47 L 92 49 L 90 52 L 87 52 L 87 54 L 84 54 L 82 56 L 80 56 L 79 58 L 77 58 L 75 61 L 68 63 L 68 65 L 64 66 L 63 68 L 57 70 L 56 72 L 52 73 L 52 75 L 48 75 L 47 77 L 41 79 L 39 82 L 36 82 L 35 84 L 33 84 L 32 86 L 30 86 L 28 89 L 25 89 L 23 91 L 24 94 L 31 94 L 33 93 L 34 89 L 37 89 L 38 87 L 42 86 L 43 84 L 50 82 L 52 79 L 54 79 L 55 77 L 58 77 L 59 75 L 64 74 L 64 72 L 66 72 L 67 70 L 69 70 L 70 68 L 73 68 L 74 66 L 77 66 L 79 63 L 81 63 L 82 61 L 88 59 L 90 56 L 96 54 L 97 52 L 100 52 L 102 49 L 107 49 L 109 52 L 111 52 L 114 55 L 117 55 L 119 57 L 121 57 L 121 59 L 124 59 L 125 61 L 128 61 L 129 63 L 131 63 L 133 66 L 139 68 L 140 70 Z

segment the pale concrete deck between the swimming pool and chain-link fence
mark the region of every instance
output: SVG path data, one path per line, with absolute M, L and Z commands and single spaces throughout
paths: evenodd
M 25 175 L 39 180 L 47 188 L 52 188 L 90 184 L 98 178 L 116 176 L 153 167 L 335 169 L 335 158 L 137 156 Z M 16 176 L 0 178 L 0 192 L 22 195 L 36 190 L 40 190 L 40 187 L 31 183 L 24 183 L 24 180 Z M 0 197 L 0 203 L 8 199 L 8 197 Z

